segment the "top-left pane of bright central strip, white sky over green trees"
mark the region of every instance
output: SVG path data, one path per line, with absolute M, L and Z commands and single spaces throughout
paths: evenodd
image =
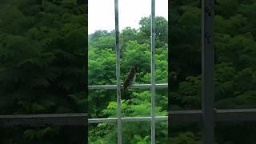
M 89 0 L 89 85 L 116 84 L 114 1 Z

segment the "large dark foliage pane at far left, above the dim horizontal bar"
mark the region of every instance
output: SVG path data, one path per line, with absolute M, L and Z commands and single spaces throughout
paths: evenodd
M 0 114 L 87 112 L 86 6 L 0 2 Z

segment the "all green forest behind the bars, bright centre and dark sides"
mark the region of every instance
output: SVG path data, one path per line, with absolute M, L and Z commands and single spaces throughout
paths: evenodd
M 256 107 L 256 1 L 216 0 L 214 86 L 217 109 Z M 170 1 L 168 21 L 156 18 L 156 82 L 166 83 L 171 51 L 170 103 L 156 90 L 156 115 L 201 109 L 201 1 Z M 84 94 L 87 7 L 76 0 L 0 1 L 0 114 L 86 112 L 116 117 L 116 90 Z M 114 21 L 114 19 L 113 19 Z M 138 66 L 136 83 L 150 83 L 150 15 L 138 30 L 120 32 L 121 80 Z M 168 25 L 169 24 L 169 25 Z M 168 42 L 168 33 L 171 42 Z M 115 36 L 97 30 L 88 37 L 89 85 L 115 84 Z M 168 43 L 170 44 L 168 49 Z M 130 89 L 122 117 L 150 116 L 150 90 Z M 201 123 L 170 126 L 168 143 L 202 143 Z M 0 143 L 82 143 L 82 128 L 1 128 Z M 89 143 L 117 143 L 117 123 L 89 126 Z M 254 122 L 217 122 L 218 144 L 254 144 Z M 167 122 L 156 123 L 157 143 L 167 142 Z M 123 143 L 150 143 L 150 122 L 123 122 Z

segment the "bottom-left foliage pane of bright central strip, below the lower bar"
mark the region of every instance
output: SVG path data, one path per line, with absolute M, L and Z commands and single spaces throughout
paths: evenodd
M 89 125 L 89 143 L 118 143 L 118 130 L 115 122 L 102 122 Z

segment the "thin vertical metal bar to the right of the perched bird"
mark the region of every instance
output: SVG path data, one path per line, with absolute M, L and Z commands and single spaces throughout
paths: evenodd
M 155 143 L 155 0 L 151 0 L 151 143 Z

